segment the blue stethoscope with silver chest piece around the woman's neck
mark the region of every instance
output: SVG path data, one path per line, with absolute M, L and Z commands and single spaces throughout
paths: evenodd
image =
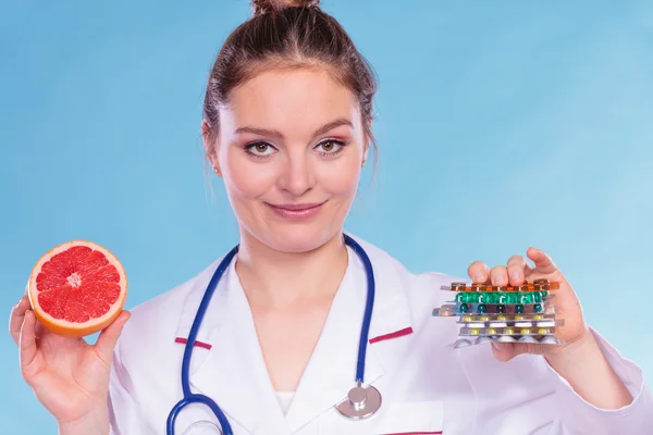
M 377 388 L 371 385 L 364 386 L 365 380 L 365 361 L 366 361 L 366 352 L 367 352 L 367 344 L 368 337 L 370 333 L 370 322 L 372 320 L 372 310 L 374 308 L 374 270 L 372 269 L 372 262 L 368 257 L 367 252 L 362 247 L 354 240 L 352 237 L 344 235 L 345 244 L 349 246 L 356 254 L 362 261 L 362 265 L 365 268 L 365 274 L 367 277 L 367 300 L 365 304 L 365 314 L 362 318 L 362 326 L 360 330 L 360 338 L 358 343 L 358 360 L 356 363 L 356 386 L 349 390 L 347 398 L 341 401 L 335 406 L 336 411 L 346 419 L 349 420 L 361 420 L 367 419 L 373 415 L 381 408 L 381 393 Z M 223 435 L 233 435 L 233 431 L 229 421 L 218 403 L 213 399 L 208 396 L 194 394 L 190 391 L 190 381 L 189 381 L 189 371 L 190 371 L 190 358 L 193 357 L 193 348 L 195 346 L 195 340 L 197 339 L 197 333 L 199 332 L 199 327 L 201 325 L 201 321 L 207 312 L 207 308 L 209 307 L 209 302 L 211 301 L 211 297 L 213 296 L 213 291 L 215 291 L 215 287 L 218 283 L 222 278 L 222 275 L 231 264 L 233 258 L 238 252 L 238 246 L 233 248 L 220 262 L 218 269 L 213 273 L 209 285 L 205 291 L 205 295 L 199 303 L 199 308 L 197 309 L 197 313 L 195 314 L 195 320 L 193 321 L 193 326 L 190 327 L 190 333 L 188 334 L 188 339 L 186 346 L 184 348 L 184 359 L 182 362 L 182 390 L 184 393 L 184 398 L 180 400 L 174 408 L 170 411 L 168 415 L 168 435 L 174 435 L 174 423 L 176 421 L 177 415 L 186 406 L 190 403 L 202 403 L 206 405 L 213 411 L 213 414 L 218 419 L 220 423 L 220 427 L 215 426 L 214 423 L 208 421 L 200 421 L 192 424 L 185 432 L 184 435 L 189 435 L 194 433 L 195 430 L 204 431 L 210 428 L 213 433 L 223 434 Z

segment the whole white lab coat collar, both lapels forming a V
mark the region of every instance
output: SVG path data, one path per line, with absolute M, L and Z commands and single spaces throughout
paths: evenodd
M 387 253 L 353 237 L 370 257 L 377 283 L 365 373 L 365 383 L 373 385 L 387 364 L 396 363 L 390 340 L 401 341 L 412 328 L 401 265 Z M 198 334 L 190 366 L 193 390 L 213 398 L 230 421 L 250 433 L 294 433 L 345 399 L 355 386 L 367 297 L 362 263 L 352 249 L 348 254 L 347 271 L 285 417 L 266 369 L 235 261 L 215 289 Z M 188 295 L 177 328 L 180 343 L 188 336 L 209 279 L 200 279 Z M 378 345 L 380 341 L 389 343 Z

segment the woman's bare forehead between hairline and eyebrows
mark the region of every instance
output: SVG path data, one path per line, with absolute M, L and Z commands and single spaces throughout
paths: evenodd
M 322 69 L 275 70 L 258 74 L 230 96 L 225 108 L 232 121 L 242 126 L 284 125 L 312 128 L 345 117 L 360 119 L 353 92 Z

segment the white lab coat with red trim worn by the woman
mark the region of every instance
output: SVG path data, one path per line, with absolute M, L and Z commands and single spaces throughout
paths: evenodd
M 440 286 L 460 279 L 412 274 L 386 252 L 359 243 L 377 282 L 365 381 L 381 391 L 381 410 L 368 420 L 349 421 L 333 408 L 355 378 L 367 288 L 356 253 L 348 250 L 343 283 L 285 415 L 234 261 L 199 331 L 190 385 L 218 402 L 235 435 L 653 433 L 653 399 L 642 371 L 597 334 L 609 363 L 634 397 L 619 410 L 586 402 L 542 357 L 520 356 L 502 363 L 490 345 L 448 348 L 458 325 L 454 319 L 433 318 L 432 310 L 451 299 Z M 182 398 L 180 341 L 188 335 L 218 263 L 132 311 L 114 353 L 111 434 L 165 434 L 168 414 Z M 177 419 L 177 434 L 198 420 L 217 421 L 208 408 L 192 405 Z

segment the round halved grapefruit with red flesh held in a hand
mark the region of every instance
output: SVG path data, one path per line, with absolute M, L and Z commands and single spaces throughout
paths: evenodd
M 72 240 L 38 260 L 27 291 L 36 319 L 47 330 L 84 337 L 102 331 L 122 312 L 127 276 L 102 246 Z

